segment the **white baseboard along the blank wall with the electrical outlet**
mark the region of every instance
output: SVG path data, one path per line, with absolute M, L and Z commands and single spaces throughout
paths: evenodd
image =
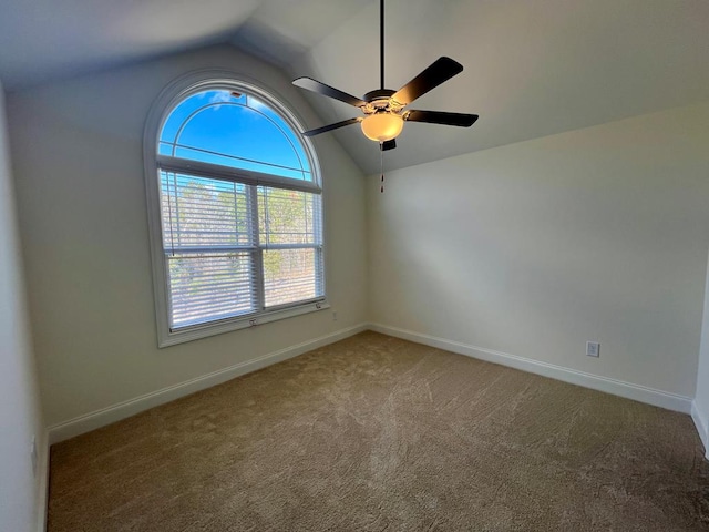
M 370 330 L 374 330 L 377 332 L 389 336 L 395 336 L 397 338 L 403 338 L 404 340 L 415 341 L 417 344 L 423 344 L 425 346 L 444 349 L 446 351 L 456 352 L 459 355 L 465 355 L 467 357 L 477 358 L 487 362 L 508 366 L 511 368 L 521 369 L 523 371 L 541 375 L 543 377 L 549 377 L 552 379 L 569 382 L 572 385 L 578 385 L 585 388 L 605 391 L 606 393 L 613 393 L 614 396 L 620 396 L 627 399 L 646 402 L 648 405 L 661 407 L 667 410 L 674 410 L 682 413 L 690 413 L 691 411 L 691 398 L 679 396 L 677 393 L 656 390 L 654 388 L 634 385 L 631 382 L 625 382 L 623 380 L 599 377 L 597 375 L 586 374 L 585 371 L 577 371 L 575 369 L 556 366 L 554 364 L 517 357 L 516 355 L 510 355 L 502 351 L 470 346 L 466 344 L 461 344 L 459 341 L 446 340 L 445 338 L 422 335 L 412 330 L 400 329 L 398 327 L 370 324 L 369 328 Z

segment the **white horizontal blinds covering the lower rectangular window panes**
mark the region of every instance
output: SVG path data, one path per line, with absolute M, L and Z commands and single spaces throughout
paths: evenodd
M 322 298 L 320 194 L 160 176 L 171 329 Z

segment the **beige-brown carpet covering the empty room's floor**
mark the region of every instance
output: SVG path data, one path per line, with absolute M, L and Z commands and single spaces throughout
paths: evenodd
M 709 530 L 688 416 L 364 332 L 52 448 L 50 532 Z

